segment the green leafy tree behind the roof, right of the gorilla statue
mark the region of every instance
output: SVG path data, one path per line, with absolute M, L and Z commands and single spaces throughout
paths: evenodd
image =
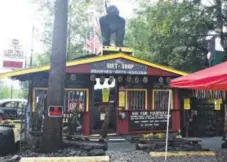
M 129 20 L 127 43 L 136 49 L 139 58 L 196 71 L 205 66 L 204 35 L 210 21 L 203 9 L 193 3 L 142 3 L 137 16 Z

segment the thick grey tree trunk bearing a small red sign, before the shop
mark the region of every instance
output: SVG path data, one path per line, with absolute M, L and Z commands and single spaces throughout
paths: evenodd
M 47 106 L 64 104 L 67 13 L 68 0 L 56 0 Z M 62 118 L 48 117 L 47 107 L 45 109 L 41 150 L 53 152 L 62 146 Z

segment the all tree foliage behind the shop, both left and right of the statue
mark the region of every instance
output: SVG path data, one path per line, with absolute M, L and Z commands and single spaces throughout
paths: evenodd
M 37 3 L 37 0 L 33 1 Z M 182 3 L 132 0 L 131 3 L 137 3 L 138 8 L 135 16 L 127 20 L 124 44 L 132 47 L 138 58 L 187 72 L 202 69 L 206 67 L 208 52 L 206 35 L 227 25 L 226 2 L 222 2 L 224 7 L 220 10 L 218 1 L 211 6 L 203 6 L 200 0 Z M 36 65 L 45 65 L 50 61 L 54 0 L 38 2 L 43 15 L 46 51 L 37 56 Z M 70 1 L 68 60 L 85 54 L 83 45 L 91 26 L 88 20 L 91 9 L 103 13 L 103 1 Z M 227 43 L 224 48 L 227 51 Z

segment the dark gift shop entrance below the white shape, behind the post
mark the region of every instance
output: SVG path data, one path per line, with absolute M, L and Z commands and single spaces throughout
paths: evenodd
M 110 119 L 108 133 L 116 132 L 116 91 L 115 88 L 110 89 Z M 102 89 L 93 90 L 93 106 L 91 110 L 91 126 L 92 133 L 99 133 L 105 119 L 105 112 L 102 109 Z

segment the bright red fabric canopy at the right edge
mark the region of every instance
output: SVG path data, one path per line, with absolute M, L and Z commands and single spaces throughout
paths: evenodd
M 185 89 L 227 90 L 227 62 L 170 81 L 170 86 Z

